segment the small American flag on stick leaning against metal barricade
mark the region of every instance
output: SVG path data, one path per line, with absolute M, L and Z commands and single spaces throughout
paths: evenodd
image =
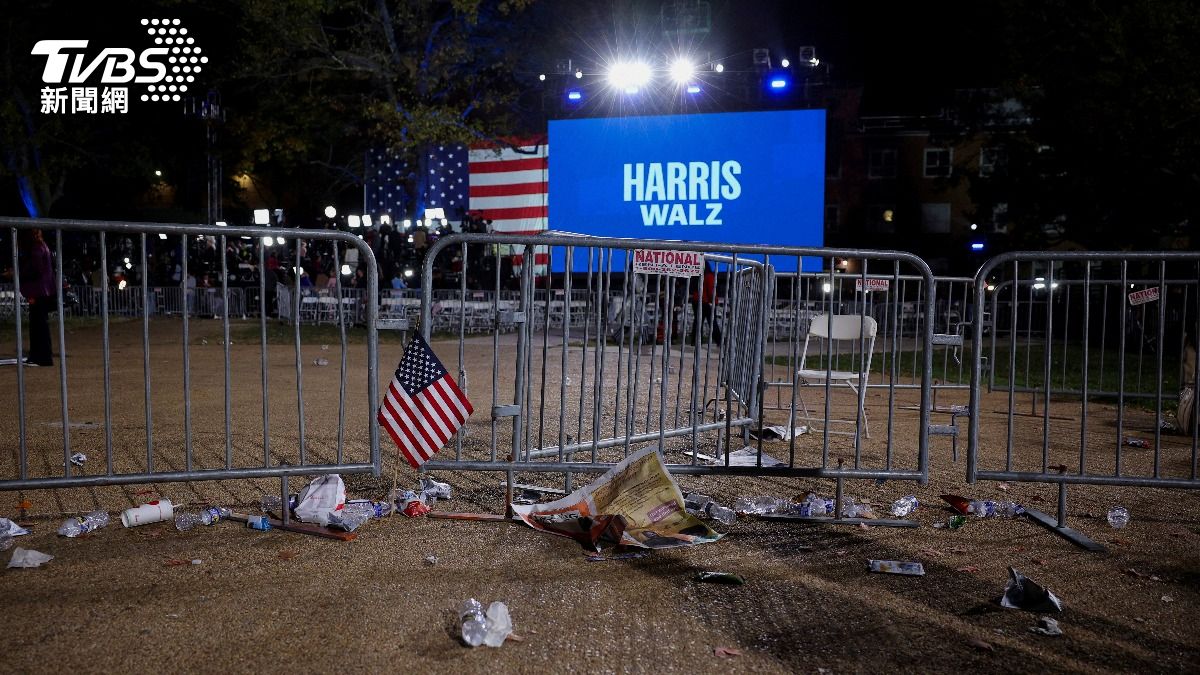
M 408 464 L 418 468 L 428 461 L 473 412 L 467 395 L 428 344 L 420 335 L 413 338 L 404 347 L 378 416 Z

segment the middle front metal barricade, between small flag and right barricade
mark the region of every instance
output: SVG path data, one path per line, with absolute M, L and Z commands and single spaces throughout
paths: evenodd
M 490 281 L 491 288 L 484 291 L 468 289 L 466 281 L 455 292 L 430 289 L 432 261 L 438 253 L 461 249 L 460 257 L 469 265 L 474 262 L 469 246 L 497 243 L 517 250 L 546 246 L 552 273 L 535 277 L 532 268 L 523 270 L 521 292 L 509 306 L 502 306 L 498 273 Z M 696 270 L 679 276 L 635 273 L 636 251 L 697 253 L 696 259 L 713 271 L 716 298 L 706 292 L 704 276 Z M 835 259 L 854 258 L 862 269 L 870 263 L 872 274 L 918 277 L 925 288 L 917 299 L 920 311 L 934 313 L 935 283 L 928 265 L 901 252 L 564 234 L 456 234 L 439 240 L 422 273 L 421 330 L 426 336 L 454 335 L 450 345 L 457 350 L 457 369 L 450 365 L 451 358 L 443 356 L 443 360 L 476 410 L 490 410 L 491 414 L 490 419 L 468 420 L 454 447 L 425 467 L 508 472 L 509 485 L 518 472 L 557 472 L 565 476 L 570 489 L 574 473 L 606 471 L 631 449 L 656 443 L 674 473 L 833 478 L 839 498 L 845 479 L 925 482 L 932 322 L 925 322 L 918 336 L 924 348 L 916 352 L 922 374 L 916 388 L 872 389 L 868 396 L 865 387 L 851 394 L 830 381 L 817 386 L 793 377 L 787 384 L 792 401 L 798 401 L 804 389 L 810 408 L 826 418 L 842 407 L 875 414 L 887 410 L 886 419 L 880 419 L 887 435 L 871 441 L 860 434 L 852 440 L 835 438 L 828 430 L 790 434 L 782 444 L 763 449 L 763 428 L 798 429 L 794 404 L 769 413 L 762 406 L 763 366 L 769 358 L 767 307 L 776 298 L 774 268 L 779 261 L 792 267 L 814 257 L 829 269 Z M 473 275 L 463 279 L 468 276 Z M 450 315 L 457 324 L 439 322 L 439 307 L 479 292 L 487 293 L 487 300 L 470 301 L 490 301 L 486 333 L 474 334 L 467 312 Z M 852 312 L 859 323 L 872 323 L 863 313 L 865 309 L 859 304 L 844 311 Z M 505 327 L 515 327 L 515 335 L 506 334 Z M 433 342 L 439 352 L 450 345 Z M 788 345 L 790 350 L 798 347 L 794 341 Z M 820 368 L 827 374 L 836 371 L 863 353 L 862 348 L 847 352 L 840 354 L 845 363 L 826 359 Z M 834 404 L 830 394 L 842 400 Z M 852 425 L 856 422 L 865 425 L 862 416 Z M 892 434 L 901 428 L 911 432 Z M 901 447 L 904 450 L 898 449 Z M 773 453 L 779 456 L 773 458 Z

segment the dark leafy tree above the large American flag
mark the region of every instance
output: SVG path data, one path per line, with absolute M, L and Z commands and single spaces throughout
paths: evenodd
M 281 186 L 298 178 L 307 185 L 323 180 L 316 192 L 325 198 L 361 185 L 370 149 L 385 145 L 415 166 L 425 144 L 518 131 L 527 110 L 517 104 L 524 83 L 515 73 L 522 72 L 529 4 L 230 5 L 242 49 L 224 88 L 234 107 L 230 137 L 244 168 Z

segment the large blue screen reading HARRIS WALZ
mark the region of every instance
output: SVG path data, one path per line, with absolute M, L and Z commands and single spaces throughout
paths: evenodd
M 552 120 L 550 228 L 821 246 L 824 120 L 824 110 Z M 553 267 L 562 271 L 560 256 Z M 820 258 L 803 267 L 820 270 Z

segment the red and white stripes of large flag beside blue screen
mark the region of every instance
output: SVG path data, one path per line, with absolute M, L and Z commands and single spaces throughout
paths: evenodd
M 470 189 L 468 208 L 492 221 L 493 232 L 533 234 L 546 229 L 550 148 L 545 138 L 514 139 L 511 148 L 473 147 L 468 153 Z M 542 275 L 550 250 L 534 251 L 534 273 Z M 512 265 L 520 271 L 523 256 Z

